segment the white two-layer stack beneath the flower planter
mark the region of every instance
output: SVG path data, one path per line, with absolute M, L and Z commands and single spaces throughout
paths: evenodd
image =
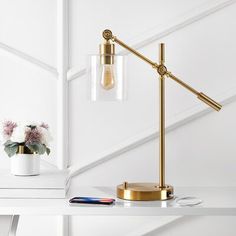
M 40 175 L 14 176 L 0 169 L 0 198 L 65 198 L 68 171 L 41 165 Z

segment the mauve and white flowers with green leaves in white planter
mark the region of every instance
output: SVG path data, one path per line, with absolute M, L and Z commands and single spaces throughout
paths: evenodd
M 24 146 L 31 153 L 50 154 L 49 142 L 52 140 L 49 126 L 45 123 L 18 124 L 5 121 L 2 126 L 4 151 L 9 157 L 17 154 L 19 146 Z

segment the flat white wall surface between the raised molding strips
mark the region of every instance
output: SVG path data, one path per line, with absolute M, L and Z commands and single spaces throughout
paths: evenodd
M 223 2 L 223 1 L 217 1 Z M 128 43 L 139 42 L 145 35 L 158 33 L 182 18 L 196 15 L 216 1 L 69 1 L 70 73 L 86 67 L 86 57 L 97 53 L 101 32 L 111 28 Z M 127 4 L 127 5 L 126 5 Z M 104 9 L 106 9 L 104 14 Z M 157 59 L 158 43 L 166 43 L 166 64 L 184 81 L 213 98 L 236 86 L 232 73 L 236 54 L 236 4 L 210 14 L 193 24 L 166 35 L 139 49 L 153 60 Z M 56 0 L 3 0 L 0 2 L 0 43 L 14 47 L 50 68 L 56 67 Z M 150 33 L 151 32 L 151 33 Z M 151 42 L 151 41 L 150 41 Z M 13 57 L 0 45 L 0 118 L 46 120 L 56 137 L 56 80 L 51 72 Z M 117 46 L 118 49 L 118 46 Z M 83 167 L 99 154 L 123 140 L 153 128 L 158 124 L 158 80 L 155 71 L 134 56 L 128 56 L 128 101 L 125 103 L 92 103 L 87 100 L 87 76 L 70 82 L 70 164 Z M 167 80 L 167 120 L 193 107 L 204 107 L 174 82 Z M 236 104 L 226 106 L 220 113 L 210 113 L 167 135 L 167 180 L 173 185 L 235 185 L 234 173 L 236 135 L 231 130 Z M 230 132 L 231 131 L 231 132 Z M 81 176 L 77 185 L 116 185 L 121 181 L 154 181 L 157 179 L 157 140 L 127 152 Z M 53 143 L 55 147 L 56 138 Z M 55 148 L 54 148 L 55 150 Z M 54 153 L 55 154 L 55 153 Z M 1 151 L 1 156 L 3 152 Z M 145 159 L 144 159 L 145 158 Z M 55 163 L 56 155 L 51 162 Z M 7 167 L 8 159 L 1 158 Z M 145 163 L 145 165 L 144 165 Z M 204 167 L 204 168 L 203 168 Z M 148 170 L 148 171 L 147 171 Z M 122 176 L 120 175 L 122 171 Z M 106 174 L 104 174 L 106 173 Z M 141 174 L 140 174 L 141 173 Z M 223 173 L 223 174 L 222 174 Z M 190 178 L 191 174 L 191 178 Z M 214 222 L 216 218 L 202 218 Z M 230 218 L 232 219 L 232 218 Z M 20 221 L 20 236 L 28 236 L 29 218 Z M 120 219 L 117 217 L 81 218 L 71 220 L 71 235 L 125 235 L 150 221 L 150 218 Z M 152 218 L 152 221 L 159 218 Z M 97 222 L 91 229 L 91 221 Z M 44 223 L 48 235 L 55 233 L 53 218 L 32 218 L 34 228 Z M 37 222 L 37 224 L 36 224 Z M 48 222 L 46 227 L 46 222 Z M 119 224 L 117 224 L 119 222 Z M 125 224 L 125 222 L 127 224 Z M 183 234 L 186 223 L 171 226 Z M 233 224 L 225 218 L 225 227 L 232 233 Z M 228 222 L 228 223 L 226 223 Z M 27 223 L 27 225 L 26 225 Z M 80 223 L 80 224 L 79 224 Z M 118 225 L 124 225 L 122 229 Z M 205 224 L 205 223 L 202 223 Z M 38 226 L 37 226 L 38 225 Z M 81 226 L 81 227 L 80 227 Z M 199 220 L 191 219 L 198 228 Z M 108 228 L 104 230 L 104 228 Z M 231 231 L 230 231 L 231 230 Z M 165 233 L 166 232 L 166 233 Z M 220 231 L 219 231 L 220 232 Z M 46 235 L 46 233 L 44 233 Z M 112 232 L 112 235 L 115 235 Z M 155 235 L 155 232 L 151 235 Z M 162 235 L 169 235 L 163 230 Z M 215 232 L 217 235 L 217 232 Z M 230 233 L 228 234 L 230 235 Z M 233 234 L 232 234 L 233 235 Z M 36 235 L 37 236 L 37 235 Z

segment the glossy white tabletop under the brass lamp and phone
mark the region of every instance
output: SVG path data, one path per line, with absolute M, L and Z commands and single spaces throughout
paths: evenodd
M 115 187 L 78 187 L 66 199 L 0 199 L 0 215 L 236 215 L 236 187 L 176 187 L 176 196 L 194 196 L 202 203 L 180 207 L 175 199 L 168 201 L 124 201 L 112 206 L 70 206 L 74 196 L 111 197 Z

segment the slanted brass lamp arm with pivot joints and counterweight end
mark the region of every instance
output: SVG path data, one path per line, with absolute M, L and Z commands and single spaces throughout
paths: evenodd
M 222 108 L 222 105 L 220 105 L 219 103 L 217 103 L 216 101 L 214 101 L 213 99 L 211 99 L 210 97 L 205 95 L 204 93 L 198 92 L 197 90 L 195 90 L 194 88 L 192 88 L 191 86 L 189 86 L 188 84 L 186 84 L 185 82 L 183 82 L 182 80 L 180 80 L 179 78 L 174 76 L 171 72 L 169 72 L 167 70 L 167 68 L 164 66 L 164 61 L 161 62 L 160 65 L 158 65 L 156 62 L 151 61 L 150 59 L 148 59 L 147 57 L 145 57 L 144 55 L 142 55 L 138 51 L 134 50 L 133 48 L 129 47 L 127 44 L 125 44 L 124 42 L 119 40 L 116 36 L 114 36 L 112 34 L 112 32 L 110 30 L 104 30 L 103 37 L 105 40 L 112 40 L 113 42 L 116 42 L 121 47 L 127 49 L 128 51 L 130 51 L 131 53 L 133 53 L 134 55 L 136 55 L 137 57 L 139 57 L 143 61 L 147 62 L 149 65 L 151 65 L 154 69 L 157 70 L 157 72 L 160 74 L 161 77 L 166 75 L 169 78 L 173 79 L 175 82 L 177 82 L 178 84 L 180 84 L 184 88 L 188 89 L 190 92 L 195 94 L 198 99 L 200 99 L 201 101 L 203 101 L 208 106 L 215 109 L 216 111 L 219 111 Z

